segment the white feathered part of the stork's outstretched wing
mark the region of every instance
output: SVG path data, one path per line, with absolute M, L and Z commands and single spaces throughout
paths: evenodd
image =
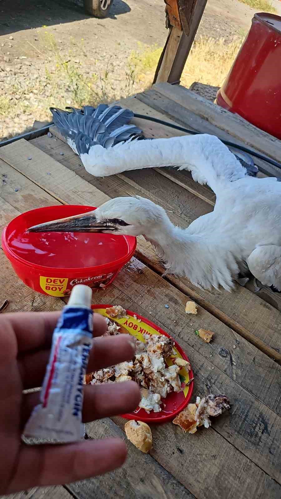
M 80 158 L 86 171 L 97 177 L 173 166 L 189 170 L 196 182 L 208 184 L 213 190 L 221 178 L 231 182 L 246 175 L 229 149 L 217 137 L 207 134 L 125 142 L 110 149 L 95 145 Z

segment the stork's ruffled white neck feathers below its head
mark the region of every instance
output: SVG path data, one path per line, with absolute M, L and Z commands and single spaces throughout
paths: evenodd
M 233 287 L 237 263 L 226 250 L 227 241 L 215 240 L 212 231 L 201 234 L 192 229 L 191 233 L 189 229 L 175 227 L 167 218 L 158 227 L 149 228 L 144 237 L 166 261 L 165 273 L 183 275 L 204 289 L 222 285 L 230 291 Z

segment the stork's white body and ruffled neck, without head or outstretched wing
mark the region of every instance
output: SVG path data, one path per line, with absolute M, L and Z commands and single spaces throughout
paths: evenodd
M 169 223 L 146 238 L 157 243 L 168 272 L 185 275 L 199 287 L 230 290 L 238 273 L 249 268 L 262 284 L 280 289 L 280 196 L 281 184 L 273 178 L 220 180 L 211 213 L 187 229 Z

